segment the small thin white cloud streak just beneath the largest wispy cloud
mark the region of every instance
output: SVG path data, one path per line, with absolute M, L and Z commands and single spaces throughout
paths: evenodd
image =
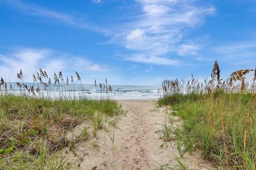
M 126 57 L 126 60 L 137 62 L 137 63 L 148 63 L 148 64 L 156 64 L 156 65 L 176 65 L 176 64 L 178 64 L 177 60 L 171 60 L 166 57 L 145 56 L 143 54 L 136 54 L 131 57 Z

